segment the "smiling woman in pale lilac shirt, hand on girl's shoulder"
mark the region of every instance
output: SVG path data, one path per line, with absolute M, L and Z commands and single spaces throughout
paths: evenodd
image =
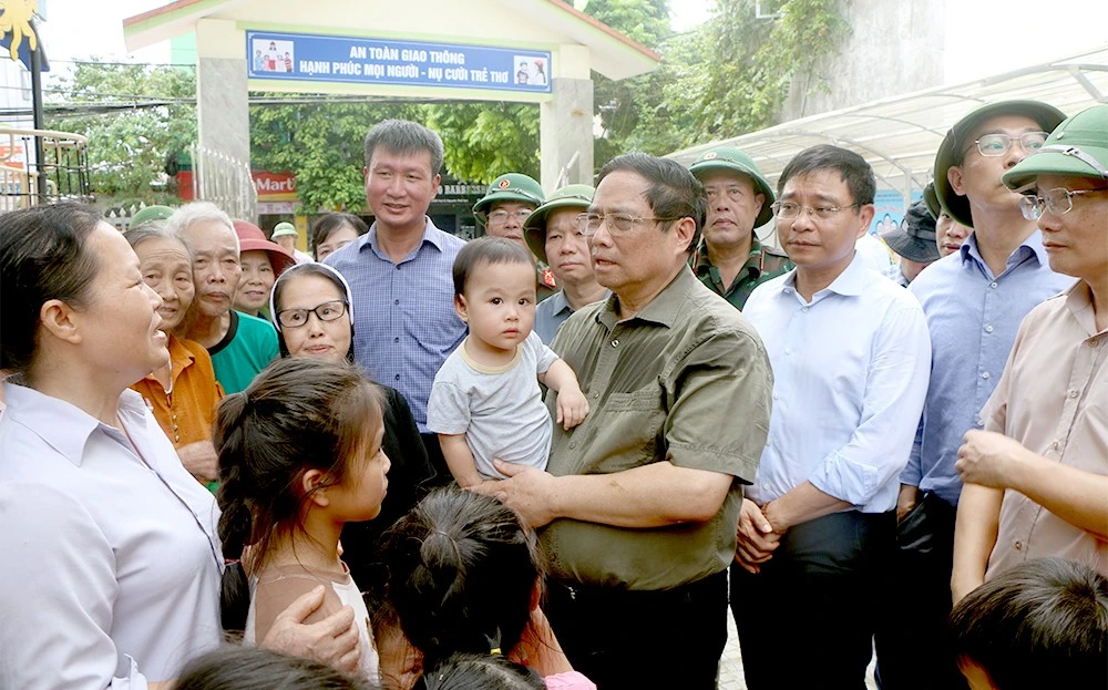
M 140 267 L 94 208 L 0 216 L 6 688 L 164 688 L 220 640 L 215 501 L 127 390 L 170 360 Z M 290 625 L 314 608 L 294 606 Z M 345 616 L 267 640 L 340 660 Z

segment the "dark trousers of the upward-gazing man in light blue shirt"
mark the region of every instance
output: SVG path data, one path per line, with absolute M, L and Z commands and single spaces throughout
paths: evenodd
M 935 494 L 896 526 L 892 588 L 876 635 L 882 690 L 965 690 L 946 618 L 957 508 Z

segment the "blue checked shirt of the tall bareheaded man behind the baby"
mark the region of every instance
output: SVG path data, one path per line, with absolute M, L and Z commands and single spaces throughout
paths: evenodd
M 465 241 L 427 219 L 423 239 L 399 262 L 369 233 L 324 261 L 350 284 L 353 357 L 376 381 L 408 400 L 420 433 L 428 433 L 427 401 L 442 362 L 465 338 L 454 311 L 454 257 Z

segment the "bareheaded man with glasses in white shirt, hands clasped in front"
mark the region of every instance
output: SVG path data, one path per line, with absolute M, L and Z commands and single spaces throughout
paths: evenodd
M 874 187 L 853 152 L 798 154 L 773 205 L 797 268 L 759 286 L 743 310 L 774 379 L 732 565 L 743 569 L 732 596 L 750 690 L 864 688 L 897 475 L 931 367 L 919 302 L 854 248 L 873 219 Z

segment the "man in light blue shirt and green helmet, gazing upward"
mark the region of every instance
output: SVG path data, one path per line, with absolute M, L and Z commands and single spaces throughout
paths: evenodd
M 935 158 L 943 209 L 973 228 L 958 251 L 932 264 L 909 288 L 927 317 L 933 364 L 927 400 L 901 474 L 895 611 L 878 635 L 884 690 L 965 687 L 944 649 L 951 610 L 954 518 L 962 482 L 954 471 L 962 436 L 1004 371 L 1024 316 L 1074 279 L 1050 270 L 1035 223 L 1001 176 L 1064 115 L 1035 101 L 977 109 L 947 133 Z

